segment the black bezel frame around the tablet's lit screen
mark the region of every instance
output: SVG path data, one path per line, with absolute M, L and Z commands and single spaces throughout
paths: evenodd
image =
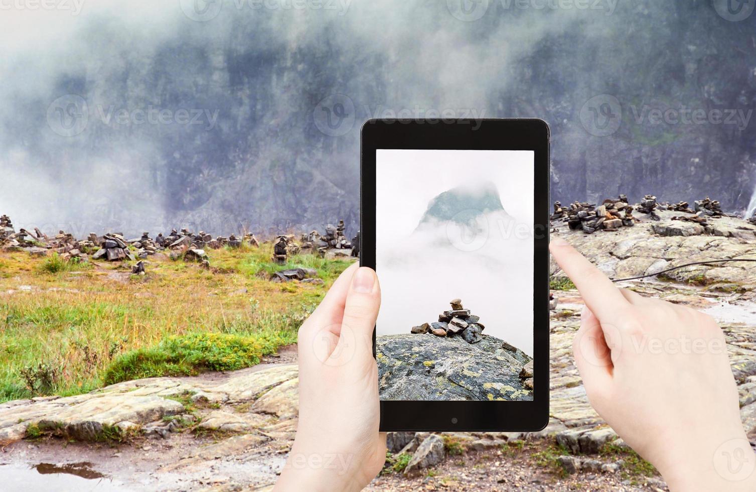
M 360 264 L 376 267 L 376 150 L 534 151 L 532 401 L 380 402 L 381 431 L 538 431 L 549 421 L 549 139 L 547 123 L 513 120 L 368 120 L 361 131 Z M 377 272 L 380 279 L 380 272 Z M 373 357 L 376 332 L 373 329 Z

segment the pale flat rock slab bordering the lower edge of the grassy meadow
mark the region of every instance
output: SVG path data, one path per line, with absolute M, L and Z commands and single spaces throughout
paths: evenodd
M 175 399 L 197 402 L 251 403 L 249 412 L 202 410 L 203 427 L 221 431 L 249 431 L 277 421 L 296 419 L 298 371 L 294 365 L 275 365 L 256 372 L 244 369 L 223 381 L 197 378 L 149 378 L 108 386 L 73 397 L 15 400 L 0 405 L 0 442 L 26 436 L 29 425 L 82 441 L 98 441 L 113 428 L 138 428 L 184 413 Z

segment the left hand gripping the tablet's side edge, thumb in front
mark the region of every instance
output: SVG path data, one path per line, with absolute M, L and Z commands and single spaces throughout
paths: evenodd
M 380 285 L 350 266 L 299 329 L 299 425 L 274 490 L 361 490 L 386 461 L 373 328 Z

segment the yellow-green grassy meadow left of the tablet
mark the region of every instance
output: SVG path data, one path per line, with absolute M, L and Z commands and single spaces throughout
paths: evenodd
M 0 253 L 0 402 L 78 394 L 134 378 L 253 366 L 296 343 L 302 321 L 352 260 L 271 263 L 272 245 L 206 251 L 212 268 L 156 254 L 70 263 Z M 323 285 L 269 282 L 314 268 Z

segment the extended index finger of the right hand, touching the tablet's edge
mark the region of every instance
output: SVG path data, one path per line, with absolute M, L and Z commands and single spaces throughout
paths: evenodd
M 549 250 L 563 272 L 580 291 L 587 307 L 599 321 L 616 317 L 617 307 L 630 303 L 606 275 L 562 238 L 553 238 Z

